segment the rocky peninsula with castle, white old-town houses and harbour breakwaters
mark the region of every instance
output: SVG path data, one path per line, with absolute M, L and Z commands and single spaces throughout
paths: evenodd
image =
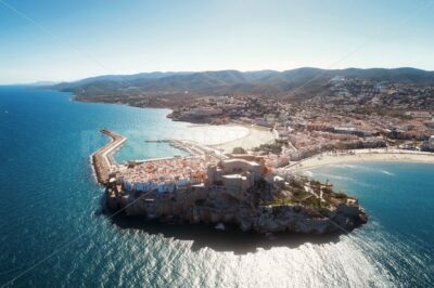
M 235 224 L 261 234 L 348 233 L 367 222 L 356 198 L 334 192 L 329 183 L 271 169 L 261 156 L 221 155 L 177 142 L 193 154 L 116 163 L 111 154 L 126 139 L 102 132 L 113 142 L 92 158 L 111 211 L 169 224 L 206 223 L 220 228 Z

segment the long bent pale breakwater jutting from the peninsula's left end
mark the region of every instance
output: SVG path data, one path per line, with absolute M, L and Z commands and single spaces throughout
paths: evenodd
M 105 185 L 108 181 L 110 174 L 117 168 L 117 162 L 113 158 L 113 154 L 124 145 L 127 139 L 107 129 L 102 129 L 100 132 L 108 136 L 111 142 L 93 153 L 92 163 L 98 183 Z

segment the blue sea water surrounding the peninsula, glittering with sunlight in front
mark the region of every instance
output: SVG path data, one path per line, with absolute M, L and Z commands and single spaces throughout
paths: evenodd
M 0 286 L 434 286 L 434 166 L 312 170 L 357 196 L 369 215 L 337 239 L 113 221 L 99 213 L 103 189 L 89 161 L 107 141 L 99 129 L 128 136 L 116 155 L 125 160 L 181 154 L 144 140 L 170 138 L 188 123 L 166 119 L 167 109 L 69 97 L 0 87 Z

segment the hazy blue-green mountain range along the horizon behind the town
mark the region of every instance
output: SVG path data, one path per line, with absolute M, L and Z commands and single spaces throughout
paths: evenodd
M 135 75 L 106 75 L 63 82 L 51 88 L 72 92 L 81 100 L 99 96 L 139 95 L 224 95 L 257 94 L 301 96 L 321 90 L 333 77 L 354 77 L 367 80 L 434 84 L 434 71 L 416 68 L 347 68 L 292 70 L 217 70 L 182 73 L 141 73 Z

